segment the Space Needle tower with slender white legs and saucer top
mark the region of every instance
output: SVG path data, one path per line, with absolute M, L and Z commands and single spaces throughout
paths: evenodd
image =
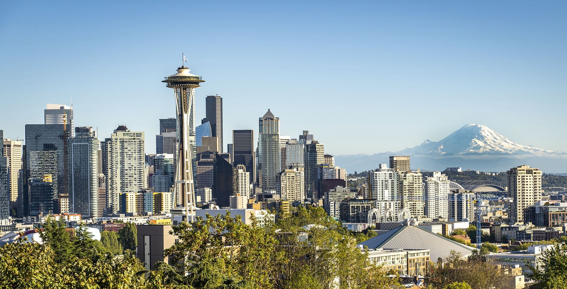
M 185 57 L 184 57 L 185 59 Z M 201 76 L 189 73 L 187 67 L 181 65 L 174 75 L 166 76 L 162 82 L 175 91 L 177 109 L 177 148 L 175 152 L 175 194 L 179 198 L 179 205 L 185 206 L 185 221 L 188 220 L 189 206 L 195 207 L 195 191 L 193 186 L 193 169 L 191 159 L 193 156 L 189 135 L 194 135 L 195 129 L 195 88 L 201 86 Z M 191 214 L 194 220 L 194 214 Z

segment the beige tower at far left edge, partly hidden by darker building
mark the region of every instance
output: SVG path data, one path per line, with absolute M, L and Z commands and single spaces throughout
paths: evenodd
M 10 210 L 18 210 L 18 192 L 22 186 L 22 142 L 5 138 L 2 155 L 8 158 L 10 169 Z

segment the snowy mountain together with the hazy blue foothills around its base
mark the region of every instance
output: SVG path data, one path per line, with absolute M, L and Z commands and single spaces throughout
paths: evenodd
M 374 155 L 337 155 L 335 163 L 348 172 L 375 169 L 388 163 L 391 155 L 411 156 L 412 169 L 442 171 L 446 167 L 462 167 L 478 171 L 507 171 L 529 164 L 544 172 L 567 171 L 567 154 L 520 145 L 485 125 L 468 124 L 438 142 L 427 139 L 421 145 L 401 151 Z

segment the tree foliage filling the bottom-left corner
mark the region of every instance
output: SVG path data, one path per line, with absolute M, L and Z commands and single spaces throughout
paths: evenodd
M 137 258 L 107 253 L 87 228 L 48 218 L 43 244 L 20 238 L 0 247 L 1 288 L 137 288 L 145 286 Z

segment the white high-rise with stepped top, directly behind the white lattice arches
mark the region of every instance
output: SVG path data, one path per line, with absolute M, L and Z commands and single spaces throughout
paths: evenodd
M 386 164 L 370 172 L 370 198 L 376 201 L 399 201 L 398 185 L 399 173 Z

